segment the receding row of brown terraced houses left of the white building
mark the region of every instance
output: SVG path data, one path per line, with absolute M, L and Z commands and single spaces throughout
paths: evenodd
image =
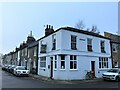
M 3 64 L 26 66 L 30 73 L 37 74 L 37 46 L 31 32 L 26 42 L 23 41 L 18 48 L 15 48 L 15 51 L 4 55 Z

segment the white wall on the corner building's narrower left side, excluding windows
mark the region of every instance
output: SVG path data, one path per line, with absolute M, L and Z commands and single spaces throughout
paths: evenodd
M 61 48 L 61 31 L 56 32 L 56 50 L 52 51 L 52 35 L 42 39 L 39 41 L 39 49 L 38 49 L 38 75 L 43 75 L 50 77 L 50 69 L 48 68 L 48 65 L 50 65 L 50 56 L 55 55 L 58 50 Z M 42 44 L 47 44 L 47 53 L 41 53 L 40 54 L 40 49 L 41 49 L 41 41 Z M 40 57 L 42 56 L 47 56 L 46 57 L 46 68 L 40 68 Z

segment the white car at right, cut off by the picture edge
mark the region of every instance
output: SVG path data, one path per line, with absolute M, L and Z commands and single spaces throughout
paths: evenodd
M 120 81 L 120 69 L 114 68 L 102 74 L 103 80 Z

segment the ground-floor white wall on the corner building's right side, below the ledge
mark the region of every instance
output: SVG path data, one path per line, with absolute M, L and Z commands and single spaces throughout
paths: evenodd
M 54 70 L 54 79 L 60 80 L 80 80 L 85 79 L 87 71 L 91 70 L 91 61 L 95 61 L 95 76 L 97 78 L 102 77 L 102 73 L 108 69 L 99 69 L 99 57 L 84 57 L 77 56 L 77 70 L 70 70 L 69 55 L 66 56 L 66 69 L 60 69 L 60 58 L 58 60 L 58 68 Z M 111 63 L 109 63 L 111 68 Z

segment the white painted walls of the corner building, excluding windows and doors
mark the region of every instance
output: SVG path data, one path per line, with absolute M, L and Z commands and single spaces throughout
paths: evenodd
M 95 61 L 95 75 L 96 77 L 101 77 L 102 73 L 107 69 L 99 69 L 99 57 L 110 57 L 110 41 L 104 38 L 94 37 L 90 35 L 85 35 L 76 32 L 70 32 L 66 30 L 60 30 L 56 34 L 56 50 L 52 51 L 52 35 L 42 39 L 43 44 L 47 44 L 47 53 L 40 54 L 41 40 L 39 41 L 39 57 L 47 56 L 46 68 L 40 68 L 40 58 L 38 60 L 38 75 L 50 77 L 50 57 L 58 55 L 57 69 L 53 70 L 53 78 L 61 80 L 75 80 L 75 79 L 85 79 L 85 74 L 87 70 L 91 70 L 91 61 Z M 77 36 L 77 50 L 71 50 L 71 35 Z M 87 51 L 87 38 L 92 38 L 93 40 L 93 52 Z M 85 41 L 82 41 L 84 39 Z M 101 53 L 100 41 L 105 41 L 105 51 L 106 53 Z M 59 54 L 66 55 L 66 69 L 60 69 L 60 56 Z M 77 55 L 77 70 L 70 70 L 70 56 Z M 54 61 L 54 60 L 53 60 Z M 54 62 L 53 62 L 54 65 Z M 53 66 L 54 67 L 54 66 Z M 112 68 L 112 62 L 109 58 L 109 68 Z

